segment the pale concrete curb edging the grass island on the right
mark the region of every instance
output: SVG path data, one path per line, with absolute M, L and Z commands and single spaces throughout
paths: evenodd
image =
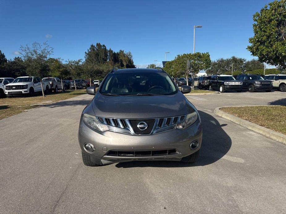
M 246 121 L 244 119 L 241 119 L 239 117 L 236 117 L 232 114 L 228 114 L 228 113 L 225 113 L 223 111 L 220 110 L 220 108 L 227 108 L 227 107 L 244 107 L 244 106 L 247 106 L 247 105 L 240 105 L 240 106 L 222 106 L 222 107 L 218 107 L 214 110 L 214 113 L 220 117 L 223 117 L 229 121 L 232 121 L 240 126 L 243 126 L 251 131 L 254 131 L 258 134 L 261 134 L 267 138 L 270 138 L 272 140 L 275 140 L 279 143 L 282 143 L 284 145 L 286 145 L 286 135 L 284 134 L 281 134 L 281 133 L 278 133 L 278 132 L 275 132 L 273 130 L 270 130 L 270 129 L 267 129 L 265 127 L 262 127 L 262 126 L 259 126 L 255 123 L 252 123 L 252 122 L 249 122 L 249 121 Z

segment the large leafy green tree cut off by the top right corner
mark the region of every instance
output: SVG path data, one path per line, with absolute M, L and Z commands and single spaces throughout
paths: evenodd
M 265 5 L 253 21 L 254 36 L 247 49 L 260 62 L 286 68 L 286 0 Z

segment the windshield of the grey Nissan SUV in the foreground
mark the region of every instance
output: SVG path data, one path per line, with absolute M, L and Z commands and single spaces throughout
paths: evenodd
M 128 72 L 108 74 L 102 83 L 100 93 L 118 95 L 170 95 L 177 93 L 177 89 L 166 73 Z

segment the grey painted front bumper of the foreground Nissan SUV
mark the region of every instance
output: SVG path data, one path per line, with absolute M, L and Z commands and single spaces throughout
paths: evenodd
M 79 124 L 79 146 L 81 150 L 91 156 L 92 162 L 97 164 L 118 163 L 134 160 L 173 160 L 180 161 L 198 151 L 202 143 L 202 125 L 199 119 L 193 125 L 185 130 L 170 130 L 154 135 L 132 136 L 115 133 L 111 131 L 96 132 L 81 120 Z M 197 140 L 198 147 L 195 150 L 190 149 L 190 143 Z M 91 143 L 95 150 L 88 153 L 84 150 L 85 143 Z M 144 157 L 114 157 L 107 154 L 111 150 L 117 151 L 154 151 L 154 150 L 172 150 L 176 149 L 175 154 L 156 155 Z

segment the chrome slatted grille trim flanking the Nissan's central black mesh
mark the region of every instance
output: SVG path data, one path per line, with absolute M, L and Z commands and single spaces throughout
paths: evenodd
M 97 117 L 98 121 L 106 125 L 109 131 L 117 132 L 121 134 L 129 135 L 152 135 L 158 134 L 165 131 L 176 129 L 177 124 L 184 121 L 186 115 L 180 115 L 176 117 L 163 117 L 163 118 L 145 118 L 145 119 L 135 119 L 135 120 L 149 120 L 155 119 L 152 131 L 150 134 L 136 134 L 130 124 L 129 120 L 134 119 L 121 119 L 121 118 L 109 118 L 109 117 Z

